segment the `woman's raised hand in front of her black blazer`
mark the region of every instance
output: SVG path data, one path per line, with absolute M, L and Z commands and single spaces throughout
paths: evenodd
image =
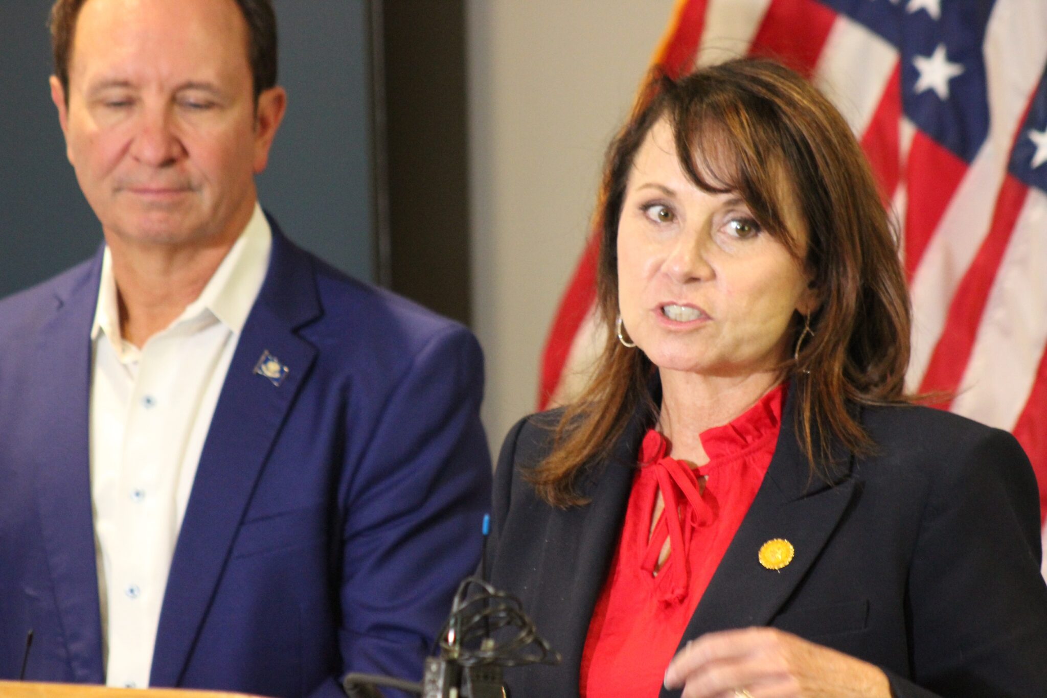
M 776 628 L 726 630 L 692 640 L 665 673 L 685 698 L 869 696 L 889 698 L 873 665 Z

